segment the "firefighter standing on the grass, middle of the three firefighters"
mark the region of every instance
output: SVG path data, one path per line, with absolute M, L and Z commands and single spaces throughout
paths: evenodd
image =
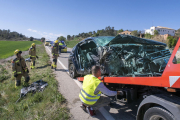
M 32 43 L 31 48 L 29 48 L 29 57 L 31 59 L 30 68 L 33 69 L 33 68 L 35 68 L 35 60 L 36 60 L 36 58 L 38 58 L 38 56 L 36 55 L 36 44 L 35 43 Z

